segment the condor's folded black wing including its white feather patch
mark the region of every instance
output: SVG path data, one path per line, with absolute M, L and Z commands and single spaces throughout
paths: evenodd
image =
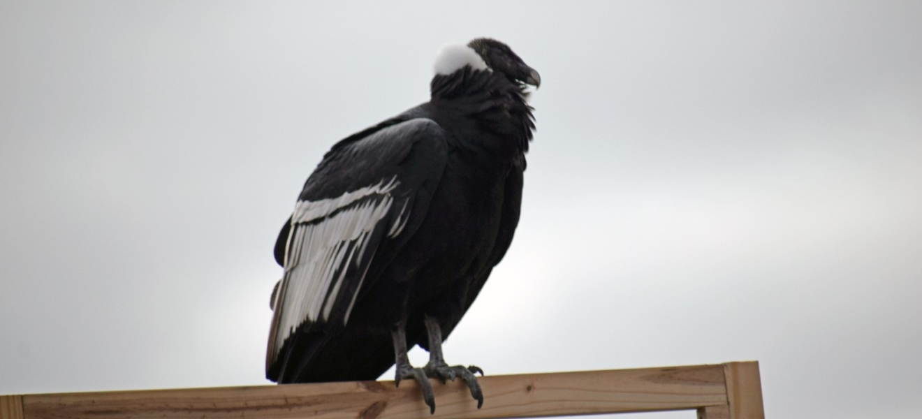
M 362 287 L 376 279 L 366 277 L 374 255 L 406 241 L 425 215 L 444 169 L 444 132 L 425 118 L 391 121 L 334 145 L 282 228 L 285 274 L 272 301 L 269 378 L 295 331 L 346 325 Z

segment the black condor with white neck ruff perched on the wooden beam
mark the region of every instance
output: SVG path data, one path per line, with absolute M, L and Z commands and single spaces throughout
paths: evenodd
M 396 384 L 462 378 L 442 342 L 513 239 L 538 72 L 500 41 L 443 48 L 431 100 L 339 141 L 304 183 L 276 242 L 266 377 Z M 408 348 L 430 352 L 412 367 Z

